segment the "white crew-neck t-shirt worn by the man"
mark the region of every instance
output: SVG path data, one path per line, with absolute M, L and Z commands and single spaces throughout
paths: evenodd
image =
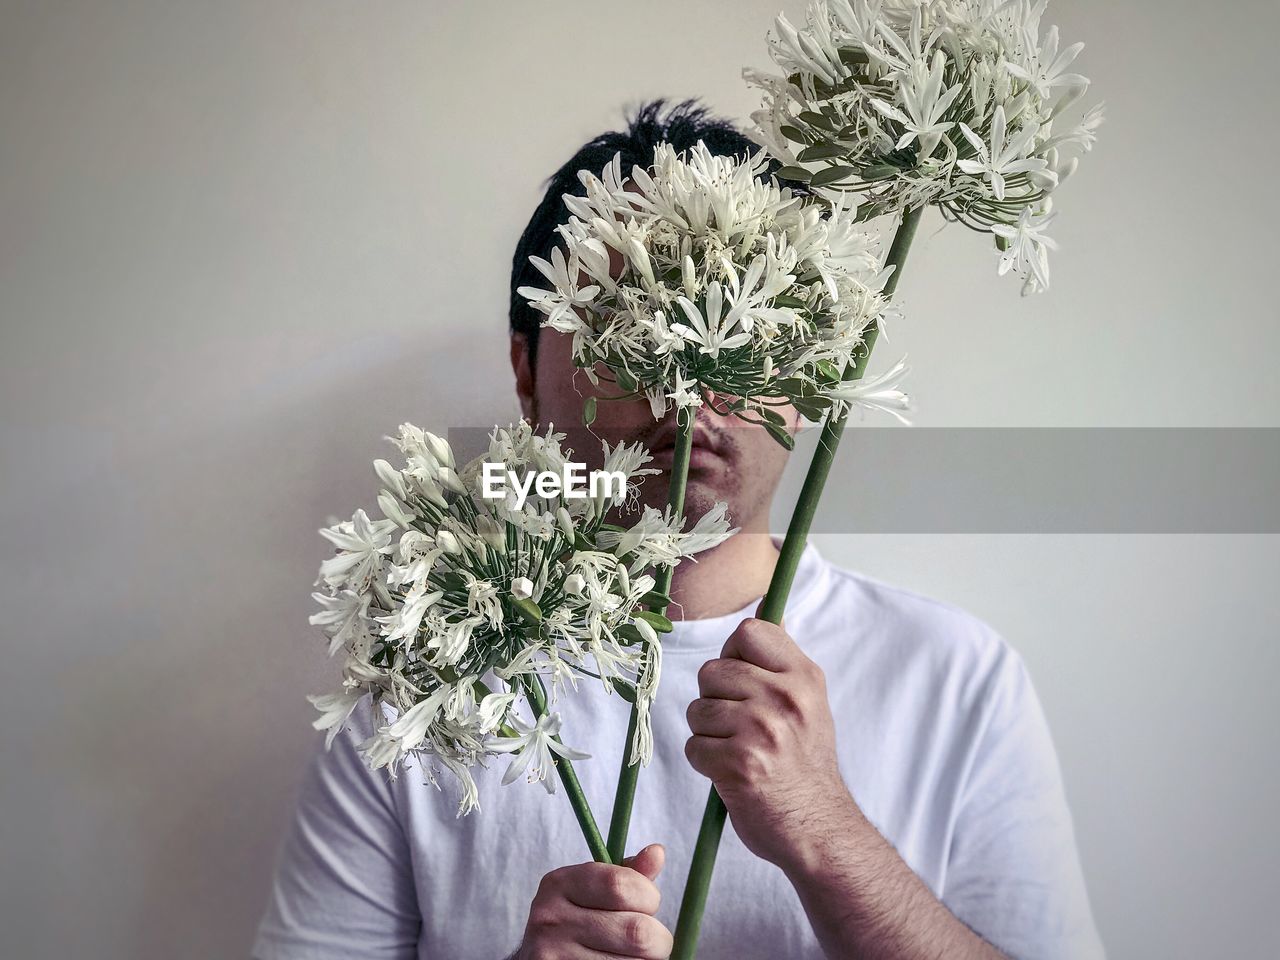
M 636 794 L 628 852 L 667 847 L 658 918 L 675 928 L 709 782 L 685 759 L 698 668 L 753 602 L 677 622 L 664 637 L 654 755 Z M 868 819 L 951 911 L 1019 960 L 1102 957 L 1057 758 L 1021 659 L 988 626 L 934 600 L 837 568 L 810 544 L 787 630 L 827 676 L 840 772 Z M 627 704 L 589 678 L 557 704 L 600 823 Z M 520 943 L 544 873 L 589 860 L 562 790 L 477 771 L 481 809 L 407 767 L 390 782 L 355 745 L 366 704 L 317 749 L 280 856 L 256 960 L 502 960 Z M 442 782 L 447 774 L 442 777 Z M 699 956 L 822 957 L 786 876 L 726 828 Z

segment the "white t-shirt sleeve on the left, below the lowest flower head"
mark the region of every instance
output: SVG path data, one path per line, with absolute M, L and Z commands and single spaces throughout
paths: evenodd
M 356 750 L 371 733 L 367 698 L 298 790 L 253 960 L 417 956 L 421 916 L 408 845 L 387 771 Z

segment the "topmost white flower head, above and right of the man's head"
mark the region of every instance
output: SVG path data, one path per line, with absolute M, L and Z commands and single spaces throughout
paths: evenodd
M 806 23 L 778 15 L 756 137 L 814 188 L 864 193 L 867 212 L 934 204 L 995 234 L 1000 273 L 1048 285 L 1051 193 L 1093 147 L 1102 108 L 1055 133 L 1089 81 L 1069 73 L 1083 44 L 1041 31 L 1048 0 L 814 0 Z

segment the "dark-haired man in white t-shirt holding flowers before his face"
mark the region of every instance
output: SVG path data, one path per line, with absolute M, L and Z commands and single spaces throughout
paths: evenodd
M 654 421 L 644 401 L 602 401 L 582 426 L 596 390 L 570 338 L 540 332 L 515 291 L 538 283 L 527 259 L 557 242 L 579 169 L 622 151 L 630 170 L 659 141 L 698 140 L 754 150 L 692 102 L 666 114 L 649 104 L 552 178 L 516 251 L 524 413 L 567 433 L 589 466 L 600 439 L 641 440 L 669 470 L 675 422 Z M 631 828 L 648 846 L 620 867 L 576 863 L 585 849 L 563 797 L 502 787 L 500 769 L 477 776 L 483 810 L 456 819 L 448 788 L 365 768 L 355 745 L 371 730 L 357 710 L 308 769 L 253 956 L 666 957 L 712 782 L 732 829 L 699 956 L 1101 957 L 1043 714 L 989 627 L 836 568 L 812 545 L 785 625 L 751 616 L 777 559 L 768 516 L 786 457 L 763 429 L 698 412 L 687 513 L 724 500 L 741 532 L 673 584 L 680 622 L 663 643 Z M 666 483 L 652 477 L 644 499 L 662 504 Z M 591 754 L 577 772 L 607 819 L 625 704 L 582 685 L 557 709 L 566 742 Z

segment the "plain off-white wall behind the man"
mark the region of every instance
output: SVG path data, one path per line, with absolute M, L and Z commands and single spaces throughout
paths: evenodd
M 640 97 L 744 116 L 776 4 L 3 6 L 4 952 L 243 955 L 333 677 L 316 527 L 402 420 L 515 413 L 541 179 Z M 1280 425 L 1276 5 L 1055 19 L 1110 104 L 1055 289 L 927 224 L 918 422 Z M 1114 956 L 1280 948 L 1277 538 L 822 545 L 1027 657 Z

